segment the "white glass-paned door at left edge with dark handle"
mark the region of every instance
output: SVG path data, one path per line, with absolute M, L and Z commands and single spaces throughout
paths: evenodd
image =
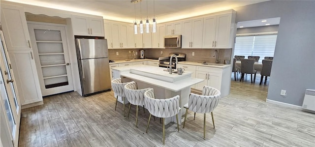
M 3 44 L 2 44 L 3 42 Z M 21 107 L 14 83 L 14 76 L 11 68 L 9 68 L 9 59 L 6 51 L 3 34 L 1 31 L 1 64 L 0 64 L 0 112 L 1 112 L 1 139 L 2 136 L 6 138 L 3 141 L 5 147 L 10 147 L 18 144 Z M 13 84 L 14 83 L 14 84 Z M 4 133 L 4 134 L 3 134 Z

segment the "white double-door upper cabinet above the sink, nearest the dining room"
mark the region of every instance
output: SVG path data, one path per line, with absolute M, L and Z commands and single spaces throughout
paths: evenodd
M 232 48 L 235 13 L 204 18 L 203 48 Z

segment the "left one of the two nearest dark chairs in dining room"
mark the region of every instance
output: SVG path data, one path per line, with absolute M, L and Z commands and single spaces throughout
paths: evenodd
M 255 59 L 241 59 L 241 80 L 244 80 L 245 74 L 251 74 L 251 82 L 252 82 L 252 74 L 254 74 L 254 83 L 256 80 L 256 70 L 254 69 Z

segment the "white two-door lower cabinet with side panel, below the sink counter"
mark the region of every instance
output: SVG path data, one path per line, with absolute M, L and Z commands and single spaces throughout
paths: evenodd
M 195 89 L 202 90 L 204 86 L 217 88 L 221 91 L 221 96 L 224 97 L 230 92 L 231 68 L 215 68 L 196 66 L 196 78 L 204 79 L 203 82 L 195 85 Z

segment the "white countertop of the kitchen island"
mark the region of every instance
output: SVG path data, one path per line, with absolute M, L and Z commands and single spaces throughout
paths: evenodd
M 113 70 L 121 72 L 121 76 L 138 80 L 147 84 L 158 86 L 161 88 L 169 89 L 172 91 L 180 91 L 184 88 L 190 87 L 194 84 L 204 81 L 203 79 L 191 78 L 189 71 L 184 72 L 182 75 L 169 74 L 164 67 L 156 67 L 149 65 L 131 65 L 123 67 L 113 67 Z M 144 75 L 139 75 L 138 72 L 132 73 L 132 70 L 142 71 Z M 175 79 L 172 82 L 168 82 L 165 79 Z

